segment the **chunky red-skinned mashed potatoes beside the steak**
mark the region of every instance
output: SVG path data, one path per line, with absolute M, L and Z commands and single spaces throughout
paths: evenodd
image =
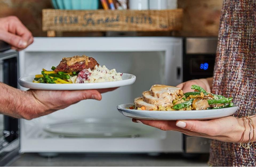
M 93 70 L 83 69 L 78 76 L 71 77 L 69 81 L 72 83 L 96 83 L 121 81 L 123 73 L 117 73 L 115 69 L 109 70 L 105 65 L 95 66 Z

